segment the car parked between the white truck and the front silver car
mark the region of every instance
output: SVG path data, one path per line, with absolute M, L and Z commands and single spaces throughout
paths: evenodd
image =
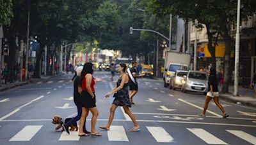
M 184 76 L 187 76 L 187 74 L 188 71 L 177 70 L 170 80 L 170 89 L 181 88 Z

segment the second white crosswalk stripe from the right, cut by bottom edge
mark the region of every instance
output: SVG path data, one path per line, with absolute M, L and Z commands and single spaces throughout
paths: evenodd
M 205 141 L 207 144 L 227 144 L 202 128 L 187 128 L 190 132 Z

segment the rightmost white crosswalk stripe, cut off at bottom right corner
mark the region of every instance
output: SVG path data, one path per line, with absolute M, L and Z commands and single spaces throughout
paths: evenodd
M 227 130 L 227 132 L 230 132 L 230 134 L 234 134 L 237 137 L 240 137 L 244 141 L 248 141 L 251 144 L 256 144 L 256 137 L 253 135 L 247 134 L 246 132 L 243 132 L 241 130 Z

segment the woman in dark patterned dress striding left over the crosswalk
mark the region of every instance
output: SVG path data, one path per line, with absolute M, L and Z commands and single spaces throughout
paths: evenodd
M 129 88 L 128 88 L 129 77 L 125 73 L 125 69 L 126 69 L 125 64 L 118 65 L 118 72 L 119 72 L 120 76 L 118 78 L 118 81 L 116 82 L 116 88 L 111 90 L 111 92 L 106 93 L 106 95 L 105 95 L 106 97 L 109 97 L 111 94 L 116 92 L 114 95 L 115 100 L 113 101 L 112 106 L 110 107 L 108 124 L 106 126 L 100 127 L 104 130 L 110 129 L 110 125 L 111 125 L 114 115 L 115 115 L 116 107 L 118 107 L 118 106 L 122 106 L 124 108 L 125 113 L 129 115 L 129 117 L 131 118 L 131 120 L 133 122 L 134 127 L 130 131 L 135 132 L 135 131 L 140 130 L 140 126 L 138 125 L 134 115 L 129 110 L 129 107 L 131 107 L 131 102 L 129 99 Z

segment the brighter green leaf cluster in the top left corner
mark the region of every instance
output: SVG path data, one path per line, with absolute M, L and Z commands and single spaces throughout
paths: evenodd
M 12 0 L 0 0 L 0 25 L 10 25 L 13 17 Z

